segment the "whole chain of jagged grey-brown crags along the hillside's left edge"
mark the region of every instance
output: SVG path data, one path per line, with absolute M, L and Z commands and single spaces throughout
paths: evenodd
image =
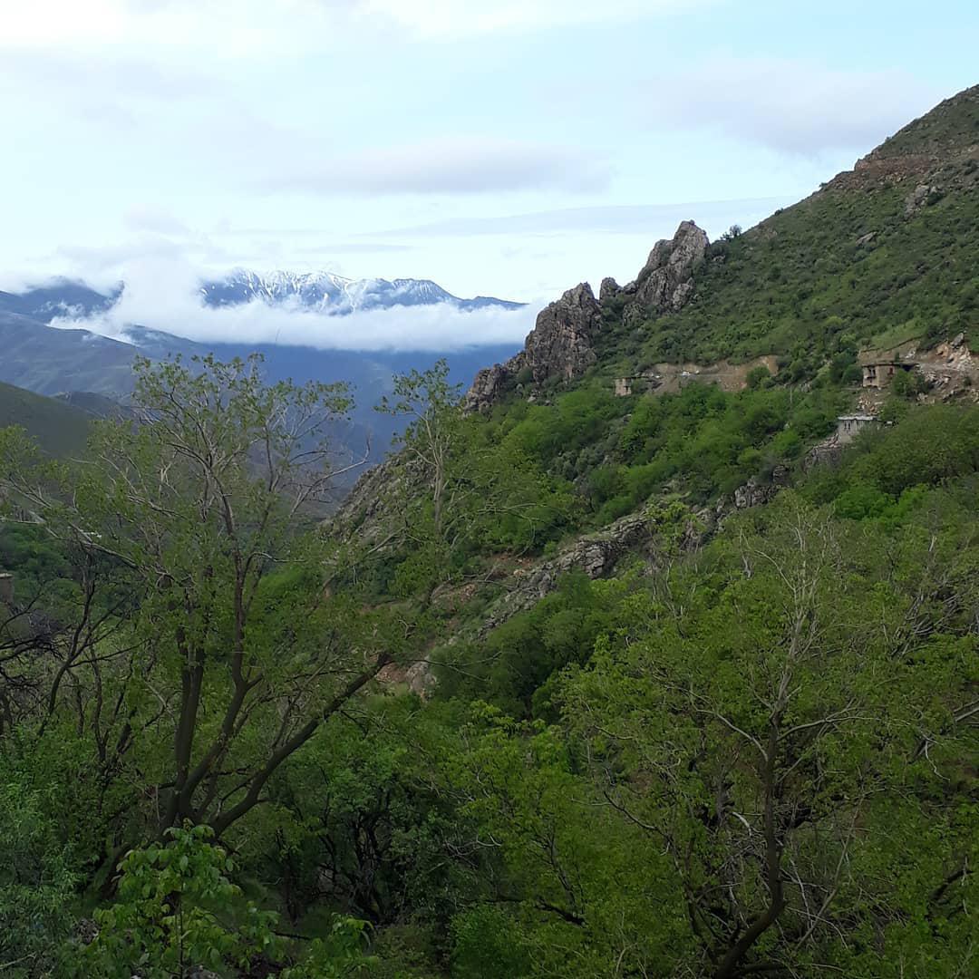
M 581 377 L 596 359 L 594 341 L 602 327 L 602 309 L 624 299 L 627 322 L 679 309 L 693 294 L 693 269 L 708 245 L 701 228 L 683 221 L 672 240 L 656 243 L 628 286 L 603 279 L 597 301 L 586 282 L 568 290 L 540 311 L 524 350 L 476 375 L 465 398 L 466 411 L 488 411 L 521 374 L 534 384 L 554 377 L 562 381 Z

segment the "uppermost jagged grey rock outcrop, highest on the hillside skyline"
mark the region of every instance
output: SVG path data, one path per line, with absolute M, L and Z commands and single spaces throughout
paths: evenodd
M 635 281 L 623 290 L 626 321 L 681 308 L 693 295 L 693 268 L 709 244 L 693 221 L 681 222 L 672 241 L 657 242 Z

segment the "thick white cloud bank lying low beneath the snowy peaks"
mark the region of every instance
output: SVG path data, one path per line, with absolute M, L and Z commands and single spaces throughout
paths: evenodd
M 135 262 L 126 287 L 107 312 L 55 320 L 59 329 L 83 329 L 131 341 L 132 324 L 200 343 L 284 344 L 317 350 L 465 350 L 523 343 L 536 308 L 462 311 L 447 303 L 358 311 L 330 316 L 299 306 L 260 301 L 212 308 L 200 280 L 179 259 Z

